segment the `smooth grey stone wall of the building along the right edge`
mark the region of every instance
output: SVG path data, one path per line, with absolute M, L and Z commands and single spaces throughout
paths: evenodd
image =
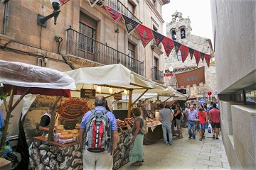
M 225 152 L 230 169 L 255 169 L 255 1 L 210 2 Z

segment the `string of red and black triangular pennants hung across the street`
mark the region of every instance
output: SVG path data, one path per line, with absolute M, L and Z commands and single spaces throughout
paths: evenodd
M 200 62 L 200 60 L 202 60 L 202 62 L 203 60 L 206 60 L 206 64 L 208 65 L 208 67 L 210 67 L 210 55 L 205 54 L 204 52 L 199 52 L 198 50 L 194 50 L 191 47 L 183 45 L 180 42 L 176 42 L 171 38 L 168 38 L 164 35 L 161 35 L 160 33 L 157 33 L 154 30 L 151 30 L 151 28 L 147 28 L 141 23 L 134 21 L 132 18 L 129 18 L 128 16 L 125 16 L 123 13 L 120 13 L 114 8 L 108 6 L 107 4 L 105 4 L 104 1 L 100 1 L 100 0 L 88 0 L 88 1 L 92 7 L 95 6 L 95 4 L 97 4 L 97 6 L 101 6 L 102 8 L 104 8 L 109 14 L 110 18 L 112 18 L 112 21 L 114 22 L 114 24 L 117 24 L 119 21 L 122 21 L 125 25 L 128 35 L 133 33 L 134 30 L 137 30 L 139 38 L 142 41 L 142 45 L 144 47 L 146 47 L 146 45 L 148 45 L 148 43 L 153 39 L 154 42 L 156 42 L 157 47 L 159 47 L 160 43 L 162 43 L 167 57 L 169 57 L 169 55 L 171 54 L 171 50 L 175 49 L 176 53 L 178 53 L 178 51 L 181 51 L 182 62 L 185 62 L 189 54 L 191 57 L 191 60 L 193 59 L 193 57 L 195 58 L 197 65 Z

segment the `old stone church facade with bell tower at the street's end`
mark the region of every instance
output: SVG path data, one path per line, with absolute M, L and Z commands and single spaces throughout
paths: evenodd
M 216 90 L 216 77 L 215 77 L 215 64 L 214 64 L 214 53 L 210 39 L 202 38 L 197 35 L 192 35 L 191 21 L 189 18 L 183 18 L 181 12 L 176 12 L 172 15 L 171 22 L 166 24 L 166 36 L 180 42 L 183 45 L 191 47 L 199 52 L 211 55 L 210 67 L 207 66 L 206 61 L 200 60 L 198 66 L 196 60 L 191 60 L 190 55 L 186 58 L 185 62 L 181 60 L 181 53 L 173 49 L 169 57 L 165 57 L 165 73 L 170 73 L 169 68 L 172 67 L 173 77 L 165 77 L 166 85 L 172 86 L 176 89 L 176 77 L 175 74 L 188 72 L 199 67 L 205 67 L 206 84 L 202 86 L 184 87 L 187 91 L 188 96 L 203 96 L 207 91 Z

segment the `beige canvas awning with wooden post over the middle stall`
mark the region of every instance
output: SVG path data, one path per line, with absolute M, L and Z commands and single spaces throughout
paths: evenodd
M 65 74 L 75 79 L 76 91 L 78 92 L 80 89 L 97 89 L 97 86 L 100 86 L 100 95 L 107 97 L 111 96 L 110 88 L 113 89 L 112 94 L 122 93 L 122 95 L 125 95 L 124 90 L 129 91 L 128 116 L 132 105 L 132 93 L 144 94 L 147 91 L 152 93 L 166 91 L 166 86 L 146 79 L 127 69 L 122 64 L 85 67 L 65 72 Z M 172 91 L 169 92 L 172 93 Z

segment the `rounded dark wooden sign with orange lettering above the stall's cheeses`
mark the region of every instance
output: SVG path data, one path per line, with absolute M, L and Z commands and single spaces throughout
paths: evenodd
M 80 99 L 65 101 L 61 103 L 58 110 L 60 124 L 64 125 L 66 130 L 75 129 L 75 124 L 80 123 L 82 116 L 89 110 L 86 101 Z

